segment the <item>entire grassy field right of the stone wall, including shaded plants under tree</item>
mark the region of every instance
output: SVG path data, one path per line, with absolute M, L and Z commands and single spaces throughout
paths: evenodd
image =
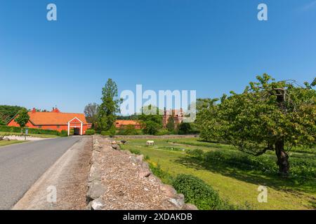
M 236 148 L 198 139 L 129 139 L 123 149 L 145 155 L 171 176 L 192 174 L 218 190 L 223 199 L 244 209 L 315 209 L 316 151 L 303 148 L 289 153 L 291 176 L 277 175 L 275 155 L 270 152 L 255 158 Z M 207 160 L 202 159 L 207 158 Z M 168 179 L 161 177 L 169 183 Z M 258 186 L 268 187 L 268 202 L 257 200 Z

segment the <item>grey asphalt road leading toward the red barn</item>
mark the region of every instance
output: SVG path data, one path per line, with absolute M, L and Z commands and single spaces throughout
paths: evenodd
M 32 184 L 81 137 L 0 147 L 0 209 L 11 209 Z

